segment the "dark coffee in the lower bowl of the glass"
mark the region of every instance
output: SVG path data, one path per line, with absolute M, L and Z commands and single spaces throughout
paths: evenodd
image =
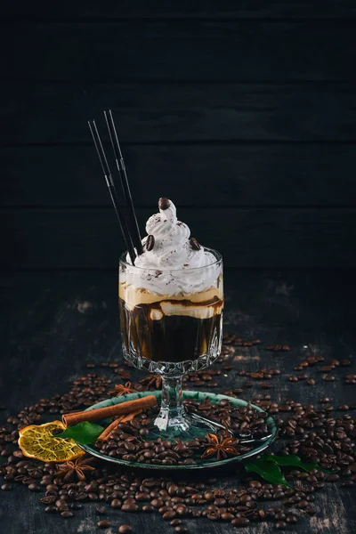
M 212 317 L 198 319 L 186 315 L 163 315 L 152 320 L 159 303 L 139 304 L 130 310 L 119 300 L 121 330 L 125 351 L 153 361 L 197 360 L 206 354 L 215 356 L 220 350 L 223 301 L 214 298 L 209 303 L 177 301 L 187 308 L 212 308 Z M 174 301 L 169 301 L 174 304 Z M 215 352 L 215 353 L 214 353 Z

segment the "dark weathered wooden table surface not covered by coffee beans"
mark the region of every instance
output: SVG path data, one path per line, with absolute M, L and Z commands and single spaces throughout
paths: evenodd
M 355 386 L 344 385 L 344 373 L 355 369 L 354 289 L 350 271 L 227 271 L 225 328 L 243 338 L 259 337 L 263 345 L 239 348 L 239 368 L 255 370 L 266 365 L 278 367 L 280 376 L 271 381 L 271 397 L 282 401 L 318 403 L 327 393 L 331 403 L 354 404 Z M 46 395 L 65 392 L 69 381 L 85 374 L 87 361 L 99 363 L 122 361 L 117 318 L 117 273 L 88 271 L 67 273 L 4 273 L 2 278 L 2 358 L 0 363 L 0 403 L 8 414 Z M 290 352 L 263 350 L 269 343 L 285 342 Z M 290 383 L 287 376 L 295 361 L 309 353 L 349 358 L 352 368 L 336 370 L 336 381 L 325 383 L 317 368 L 308 369 L 317 384 Z M 95 369 L 94 369 L 95 370 Z M 105 369 L 99 372 L 109 372 Z M 142 372 L 137 376 L 143 376 Z M 111 374 L 113 380 L 116 375 Z M 226 387 L 239 387 L 243 378 L 232 372 L 219 377 L 215 392 Z M 263 393 L 257 384 L 241 396 L 252 399 Z M 204 477 L 204 475 L 203 475 Z M 231 477 L 219 473 L 221 484 L 239 484 L 239 473 Z M 305 518 L 295 530 L 320 534 L 352 534 L 356 530 L 355 490 L 328 484 L 316 499 L 317 516 Z M 93 504 L 70 521 L 44 514 L 38 494 L 18 487 L 1 492 L 1 532 L 38 534 L 39 532 L 97 531 Z M 129 522 L 135 532 L 169 532 L 158 514 L 150 521 L 144 514 L 112 511 L 113 525 Z M 204 528 L 220 534 L 232 532 L 223 523 L 207 520 L 187 522 L 190 532 Z M 117 531 L 112 527 L 109 532 Z M 271 523 L 252 524 L 248 532 L 273 531 Z

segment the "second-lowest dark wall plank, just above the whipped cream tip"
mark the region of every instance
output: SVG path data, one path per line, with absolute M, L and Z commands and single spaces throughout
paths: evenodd
M 356 206 L 350 145 L 123 147 L 136 206 Z M 93 146 L 0 149 L 0 206 L 109 206 Z M 114 168 L 114 167 L 113 167 Z

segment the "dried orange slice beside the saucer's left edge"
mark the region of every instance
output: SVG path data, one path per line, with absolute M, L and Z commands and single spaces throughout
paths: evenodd
M 19 446 L 22 453 L 29 458 L 43 462 L 68 462 L 85 454 L 76 441 L 68 438 L 53 438 L 53 430 L 65 429 L 61 421 L 52 421 L 44 425 L 29 425 L 19 432 Z

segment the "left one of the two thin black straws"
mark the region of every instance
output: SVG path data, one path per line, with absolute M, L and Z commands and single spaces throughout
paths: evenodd
M 128 253 L 130 255 L 131 262 L 134 265 L 134 260 L 136 258 L 136 255 L 134 254 L 134 245 L 133 241 L 131 239 L 130 232 L 128 231 L 127 225 L 125 223 L 124 217 L 120 214 L 117 206 L 117 191 L 115 189 L 115 184 L 112 180 L 112 175 L 109 169 L 109 163 L 105 156 L 104 149 L 102 147 L 101 138 L 98 132 L 98 128 L 96 127 L 95 121 L 88 120 L 89 129 L 91 131 L 91 134 L 93 135 L 93 142 L 96 148 L 96 151 L 98 153 L 98 158 L 101 163 L 102 172 L 105 176 L 105 180 L 109 189 L 109 194 L 111 198 L 111 202 L 114 206 L 115 213 L 117 214 L 117 220 L 120 225 L 121 231 L 124 236 L 125 240 L 125 246 L 127 247 Z

